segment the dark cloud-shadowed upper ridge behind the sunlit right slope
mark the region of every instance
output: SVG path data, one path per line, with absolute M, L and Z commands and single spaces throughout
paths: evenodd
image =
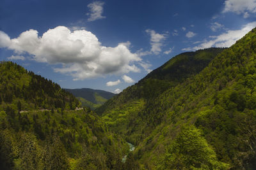
M 157 97 L 166 89 L 174 87 L 186 80 L 186 78 L 202 71 L 202 69 L 204 69 L 204 67 L 206 67 L 223 49 L 224 48 L 208 48 L 196 52 L 181 53 L 173 57 L 163 66 L 149 73 L 138 83 L 128 87 L 118 94 L 118 96 L 110 99 L 97 109 L 97 113 L 102 115 L 106 110 L 115 108 L 115 106 L 127 103 L 128 101 L 133 101 L 134 99 L 150 99 Z

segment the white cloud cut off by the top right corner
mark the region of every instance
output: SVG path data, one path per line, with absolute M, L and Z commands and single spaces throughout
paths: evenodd
M 244 18 L 249 17 L 249 13 L 256 13 L 256 0 L 226 0 L 225 12 L 234 12 L 237 14 L 243 14 Z

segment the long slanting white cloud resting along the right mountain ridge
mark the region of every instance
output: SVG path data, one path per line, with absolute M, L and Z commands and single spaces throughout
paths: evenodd
M 256 22 L 250 22 L 249 24 L 243 25 L 243 27 L 239 30 L 228 30 L 225 33 L 220 34 L 219 36 L 210 36 L 211 40 L 204 41 L 198 46 L 194 46 L 193 48 L 183 48 L 184 51 L 191 50 L 199 50 L 204 48 L 214 47 L 229 47 L 236 43 L 238 39 L 241 39 L 245 34 L 251 31 L 254 27 L 256 27 Z

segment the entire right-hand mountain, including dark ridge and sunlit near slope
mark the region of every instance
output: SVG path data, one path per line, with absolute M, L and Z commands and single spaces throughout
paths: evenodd
M 256 168 L 256 29 L 230 48 L 207 51 L 173 57 L 97 109 L 111 131 L 136 145 L 141 167 Z M 188 60 L 196 53 L 197 63 L 207 58 L 198 69 Z

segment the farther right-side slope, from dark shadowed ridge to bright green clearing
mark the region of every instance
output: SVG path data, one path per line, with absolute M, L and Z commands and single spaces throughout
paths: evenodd
M 96 111 L 99 115 L 102 114 L 102 118 L 113 132 L 138 145 L 161 123 L 161 118 L 152 114 L 159 110 L 160 105 L 156 106 L 157 96 L 202 71 L 221 51 L 223 48 L 181 53 Z

